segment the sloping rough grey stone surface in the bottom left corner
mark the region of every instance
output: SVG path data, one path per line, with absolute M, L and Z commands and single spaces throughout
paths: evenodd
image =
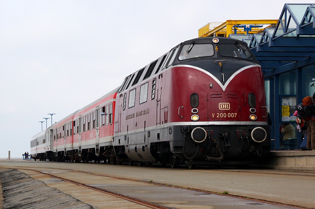
M 0 171 L 3 190 L 3 208 L 95 208 L 85 204 L 60 190 L 51 188 L 41 181 L 16 169 Z

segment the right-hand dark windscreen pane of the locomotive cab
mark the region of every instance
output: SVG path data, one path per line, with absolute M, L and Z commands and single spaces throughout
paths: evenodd
M 247 60 L 254 59 L 249 48 L 244 44 L 220 44 L 219 51 L 223 57 L 236 57 Z

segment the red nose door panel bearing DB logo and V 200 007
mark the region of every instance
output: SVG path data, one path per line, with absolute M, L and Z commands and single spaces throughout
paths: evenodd
M 240 121 L 242 104 L 237 92 L 209 92 L 207 102 L 208 124 L 220 121 Z

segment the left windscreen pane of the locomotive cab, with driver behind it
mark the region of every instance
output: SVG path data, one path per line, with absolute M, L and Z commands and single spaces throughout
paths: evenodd
M 212 44 L 186 44 L 180 51 L 179 60 L 210 57 L 215 54 Z

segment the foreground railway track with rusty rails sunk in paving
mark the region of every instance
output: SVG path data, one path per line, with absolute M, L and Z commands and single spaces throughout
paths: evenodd
M 1 167 L 1 168 L 5 168 L 5 167 Z M 9 167 L 7 167 L 7 168 L 9 168 Z M 16 168 L 16 167 L 14 167 L 14 168 Z M 241 205 L 243 204 L 242 208 L 306 208 L 306 207 L 298 207 L 298 206 L 291 206 L 291 205 L 287 205 L 287 204 L 281 204 L 281 203 L 277 203 L 277 202 L 250 199 L 248 197 L 243 197 L 243 196 L 234 196 L 234 195 L 232 196 L 232 195 L 220 194 L 220 193 L 204 191 L 204 190 L 197 190 L 197 189 L 192 189 L 192 188 L 183 188 L 183 187 L 179 187 L 179 186 L 175 186 L 175 185 L 168 185 L 168 184 L 166 185 L 166 184 L 160 184 L 160 183 L 156 183 L 156 182 L 148 182 L 148 181 L 144 181 L 144 180 L 121 178 L 121 177 L 117 177 L 117 176 L 115 177 L 115 176 L 111 176 L 111 175 L 104 175 L 104 174 L 100 174 L 100 173 L 85 172 L 85 171 L 79 171 L 79 170 L 73 170 L 73 169 L 65 169 L 65 168 L 57 168 L 57 169 L 56 168 L 45 168 L 45 169 L 43 169 L 43 168 L 36 168 L 36 169 L 35 168 L 33 168 L 33 169 L 18 168 L 18 169 L 37 172 L 37 173 L 40 173 L 43 175 L 47 175 L 51 178 L 59 179 L 59 180 L 65 181 L 65 182 L 69 182 L 71 184 L 75 184 L 75 185 L 84 187 L 84 188 L 89 188 L 91 190 L 95 190 L 95 191 L 99 191 L 99 192 L 106 193 L 109 195 L 113 195 L 113 196 L 122 198 L 124 200 L 135 202 L 137 204 L 147 206 L 150 208 L 161 208 L 161 209 L 164 209 L 164 208 L 165 209 L 166 208 L 181 208 L 180 207 L 181 205 L 177 204 L 174 206 L 174 204 L 169 204 L 170 201 L 158 200 L 158 197 L 156 200 L 152 200 L 152 198 L 148 198 L 146 195 L 140 195 L 139 196 L 139 193 L 137 194 L 137 190 L 141 191 L 143 193 L 147 192 L 147 191 L 143 190 L 143 188 L 146 188 L 146 189 L 148 188 L 148 186 L 146 186 L 146 185 L 158 186 L 159 189 L 157 189 L 157 190 L 170 190 L 173 192 L 177 192 L 179 194 L 180 193 L 186 193 L 186 195 L 187 194 L 190 195 L 190 198 L 192 195 L 194 197 L 198 197 L 198 196 L 206 196 L 207 194 L 218 196 L 217 198 L 219 198 L 219 199 L 222 199 L 222 198 L 229 199 L 230 198 L 230 200 L 225 200 L 225 202 L 229 202 L 229 204 L 228 204 L 229 206 L 231 205 L 231 201 L 232 201 L 232 202 L 237 202 L 237 204 L 241 204 Z M 39 170 L 42 170 L 42 171 L 39 171 Z M 54 173 L 54 174 L 52 174 L 52 173 Z M 70 174 L 70 173 L 76 173 L 76 174 L 74 175 L 74 174 Z M 116 179 L 116 180 L 114 180 L 115 181 L 114 185 L 118 185 L 118 187 L 119 187 L 119 185 L 124 185 L 125 187 L 128 187 L 126 185 L 131 184 L 130 182 L 135 182 L 135 184 L 133 184 L 135 191 L 132 191 L 132 190 L 131 191 L 124 191 L 121 189 L 117 189 L 117 188 L 115 188 L 115 186 L 110 185 L 110 184 L 101 184 L 101 183 L 100 184 L 91 184 L 91 183 L 84 183 L 84 181 L 83 182 L 82 181 L 75 181 L 73 178 L 68 178 L 69 176 L 74 177 L 74 176 L 78 176 L 78 175 L 79 176 L 83 175 L 84 178 L 87 178 L 88 176 L 96 176 L 96 177 L 99 176 L 101 178 Z M 64 176 L 68 176 L 68 177 L 64 178 Z M 122 183 L 121 181 L 124 181 L 124 182 Z M 141 184 L 141 185 L 138 185 L 138 184 Z M 146 185 L 143 185 L 143 184 L 146 184 Z M 106 189 L 106 188 L 108 188 L 108 189 Z M 161 188 L 163 188 L 163 189 L 161 189 Z M 169 189 L 166 189 L 166 188 L 169 188 Z M 191 194 L 192 191 L 193 191 L 193 194 Z M 163 198 L 165 199 L 165 197 L 163 197 L 163 195 L 162 195 L 161 199 L 163 199 Z M 182 197 L 175 197 L 175 198 L 176 198 L 176 200 L 183 202 L 180 200 L 180 198 L 182 198 Z M 231 198 L 233 200 L 231 200 Z M 200 203 L 200 198 L 198 198 L 198 199 L 192 198 L 192 199 L 195 199 L 195 200 L 191 200 L 191 202 L 189 204 Z M 207 199 L 207 198 L 203 198 L 203 199 Z M 236 201 L 236 199 L 237 199 L 237 201 Z M 209 203 L 209 204 L 206 203 L 205 200 L 202 200 L 202 201 L 203 201 L 202 204 L 204 204 L 203 206 L 211 205 L 211 203 Z M 160 204 L 157 204 L 157 202 Z M 165 204 L 165 202 L 166 202 L 166 204 Z M 253 207 L 254 205 L 255 205 L 255 207 Z M 244 206 L 247 206 L 247 207 L 244 207 Z M 229 207 L 225 207 L 225 208 L 229 208 Z M 235 208 L 235 207 L 230 207 L 230 208 Z

